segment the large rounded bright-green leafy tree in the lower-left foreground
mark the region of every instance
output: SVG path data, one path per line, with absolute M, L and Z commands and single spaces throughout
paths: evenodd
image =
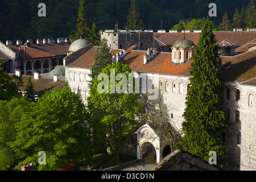
M 39 151 L 46 152 L 46 164 L 37 170 L 57 170 L 70 161 L 90 159 L 90 127 L 84 120 L 85 106 L 70 88 L 54 89 L 31 102 L 32 109 L 15 124 L 16 140 L 10 143 L 19 164 L 38 162 Z

